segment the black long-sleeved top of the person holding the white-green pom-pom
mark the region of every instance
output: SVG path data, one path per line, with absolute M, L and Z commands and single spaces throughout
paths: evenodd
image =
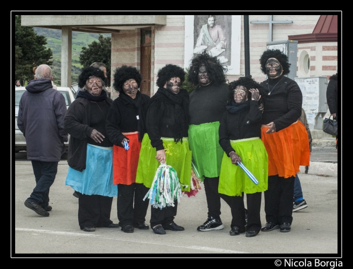
M 175 116 L 175 103 L 168 99 L 162 91 L 167 91 L 164 88 L 159 88 L 154 96 L 152 96 L 147 110 L 146 116 L 146 129 L 148 136 L 151 140 L 152 147 L 156 148 L 156 150 L 163 150 L 163 141 L 161 137 L 165 138 L 174 138 L 174 126 L 176 123 Z M 172 93 L 173 95 L 174 93 Z M 179 97 L 183 98 L 183 104 L 187 107 L 184 107 L 179 116 L 182 118 L 182 136 L 188 137 L 188 129 L 189 129 L 189 115 L 188 104 L 189 104 L 189 94 L 187 90 L 181 89 L 178 93 Z

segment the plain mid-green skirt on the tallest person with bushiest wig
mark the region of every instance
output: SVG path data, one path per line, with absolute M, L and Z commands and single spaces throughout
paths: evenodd
M 189 126 L 193 168 L 201 181 L 205 177 L 217 177 L 220 173 L 224 151 L 219 145 L 218 128 L 218 121 Z

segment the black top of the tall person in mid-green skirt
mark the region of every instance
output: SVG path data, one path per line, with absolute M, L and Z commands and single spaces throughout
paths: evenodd
M 220 121 L 228 100 L 228 85 L 200 86 L 190 94 L 190 124 Z

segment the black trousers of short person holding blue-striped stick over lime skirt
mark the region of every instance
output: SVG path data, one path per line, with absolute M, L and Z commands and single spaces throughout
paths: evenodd
M 221 197 L 227 196 L 221 194 Z M 248 207 L 248 231 L 257 231 L 261 230 L 261 218 L 260 218 L 260 209 L 261 209 L 261 195 L 262 192 L 248 193 L 247 194 L 247 207 Z M 227 196 L 230 198 L 231 206 L 231 226 L 237 226 L 239 231 L 245 232 L 245 205 L 244 205 L 244 193 L 242 196 Z

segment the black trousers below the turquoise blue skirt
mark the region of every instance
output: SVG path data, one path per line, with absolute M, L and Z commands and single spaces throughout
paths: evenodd
M 87 226 L 106 227 L 113 223 L 110 220 L 112 202 L 113 197 L 79 193 L 80 228 L 83 229 Z

